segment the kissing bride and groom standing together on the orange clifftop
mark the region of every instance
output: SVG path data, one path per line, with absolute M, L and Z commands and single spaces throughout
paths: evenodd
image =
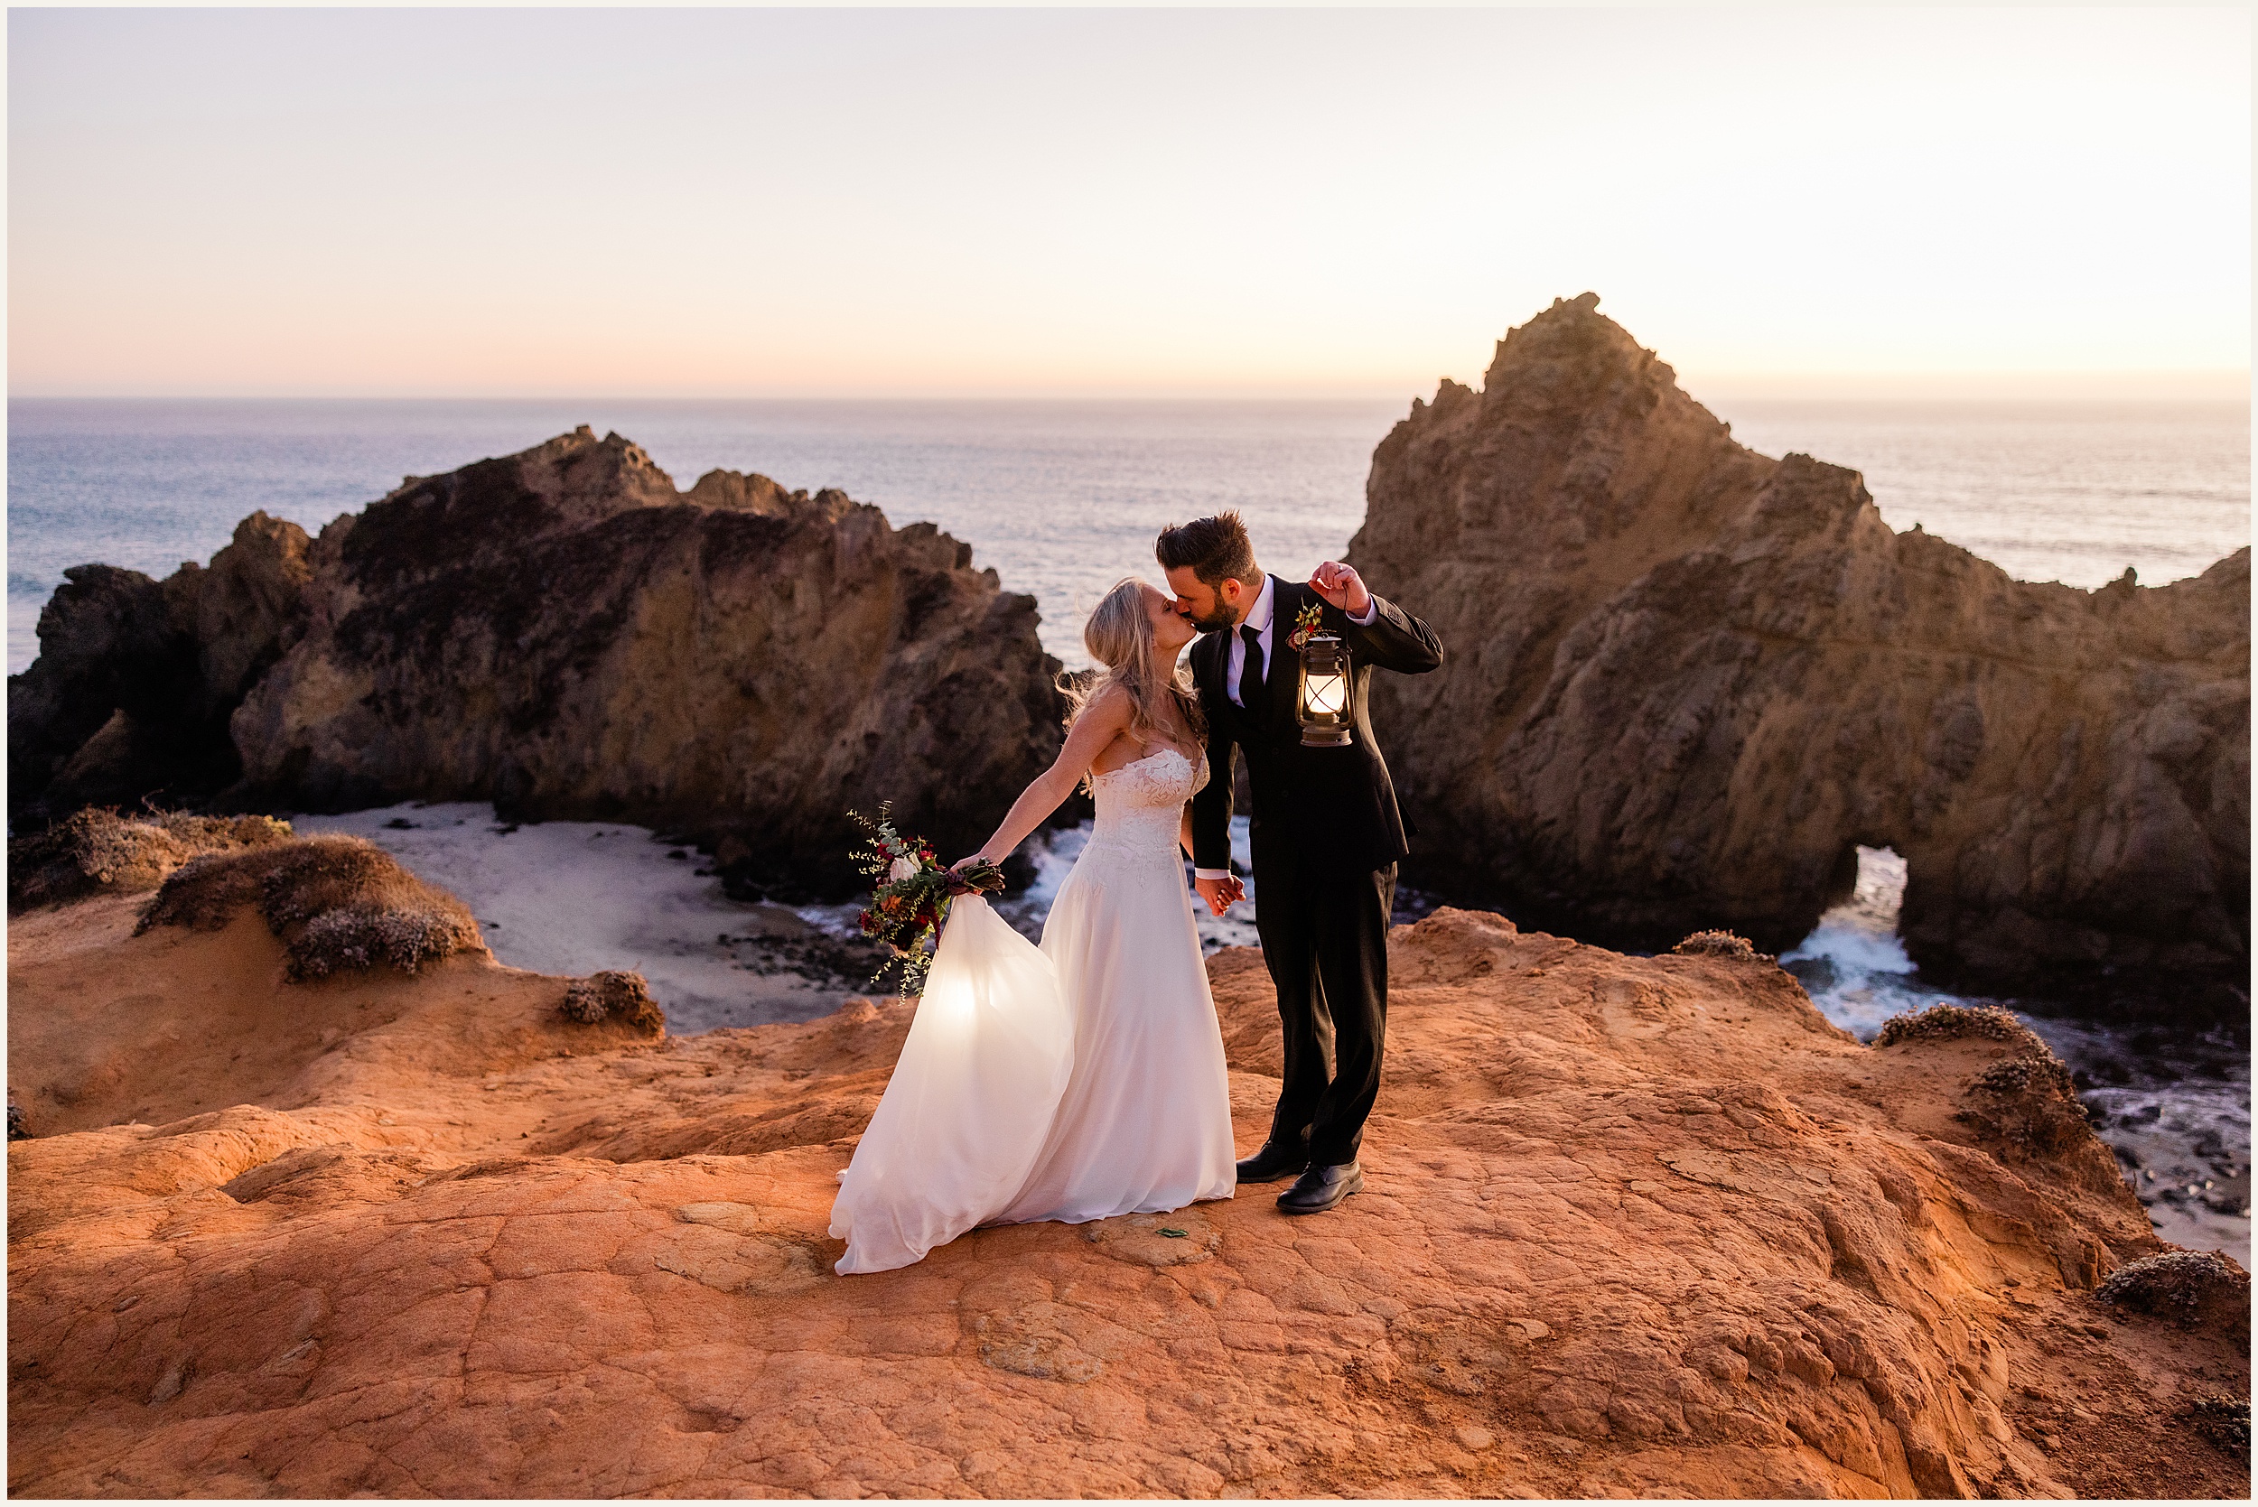
M 1068 690 L 1057 763 L 960 866 L 1000 862 L 1075 787 L 1095 801 L 1091 839 L 1041 948 L 978 896 L 955 902 L 840 1173 L 840 1272 L 908 1266 L 980 1225 L 1156 1214 L 1283 1178 L 1283 1211 L 1323 1214 L 1364 1187 L 1409 851 L 1368 686 L 1373 670 L 1438 668 L 1443 647 L 1346 564 L 1307 584 L 1267 575 L 1233 512 L 1165 528 L 1154 555 L 1170 589 L 1129 578 L 1097 602 L 1082 638 L 1102 670 Z M 1296 652 L 1310 632 L 1348 654 L 1346 742 L 1303 742 Z M 1217 916 L 1246 893 L 1231 862 L 1240 760 L 1255 932 L 1285 1035 L 1269 1135 L 1246 1160 L 1183 882 L 1190 857 Z

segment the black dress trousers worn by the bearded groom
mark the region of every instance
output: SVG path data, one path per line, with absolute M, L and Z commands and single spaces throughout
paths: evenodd
M 1312 1166 L 1357 1160 L 1380 1096 L 1393 909 L 1395 864 L 1364 873 L 1255 864 L 1255 932 L 1285 1024 L 1271 1139 L 1292 1146 L 1307 1133 Z

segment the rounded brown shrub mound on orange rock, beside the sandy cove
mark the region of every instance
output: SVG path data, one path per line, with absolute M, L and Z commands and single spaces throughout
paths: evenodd
M 461 900 L 373 841 L 339 835 L 181 864 L 142 907 L 135 932 L 212 932 L 244 907 L 257 907 L 282 941 L 294 984 L 366 968 L 415 972 L 479 945 L 479 923 Z

